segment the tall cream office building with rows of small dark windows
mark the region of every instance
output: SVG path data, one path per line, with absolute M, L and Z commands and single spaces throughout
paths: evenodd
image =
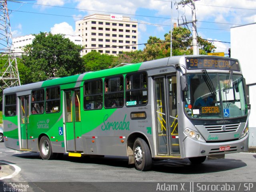
M 82 36 L 83 55 L 92 50 L 112 55 L 138 50 L 138 22 L 122 15 L 86 16 L 76 22 L 76 35 Z

